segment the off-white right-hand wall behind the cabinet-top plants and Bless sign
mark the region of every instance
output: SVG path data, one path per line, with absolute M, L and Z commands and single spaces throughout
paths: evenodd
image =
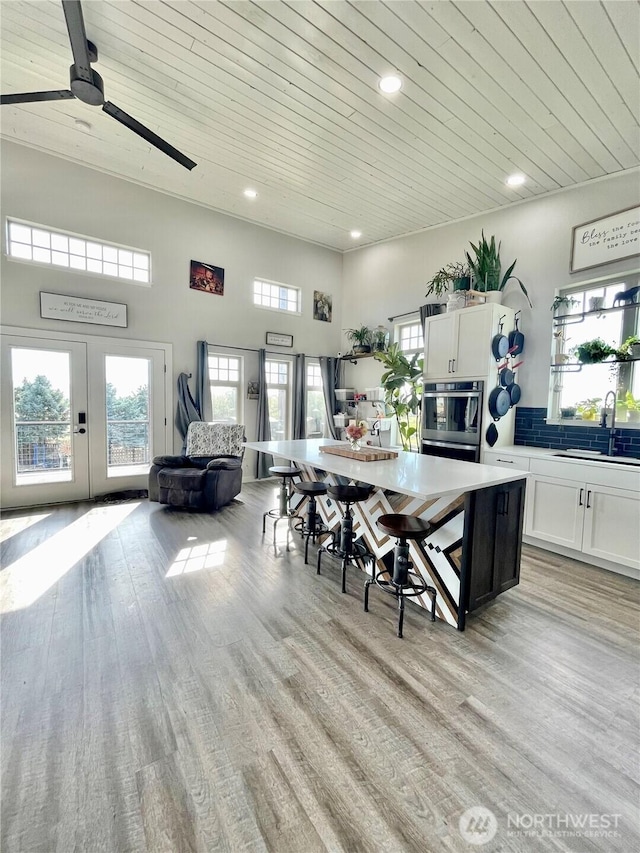
M 522 308 L 525 333 L 524 364 L 518 374 L 522 406 L 546 406 L 549 390 L 551 312 L 555 289 L 638 266 L 638 258 L 618 261 L 581 273 L 569 272 L 572 228 L 623 210 L 640 201 L 637 170 L 564 190 L 453 225 L 432 228 L 349 252 L 343 265 L 343 327 L 386 323 L 386 318 L 414 311 L 425 299 L 426 282 L 449 261 L 463 260 L 469 241 L 477 243 L 482 229 L 502 241 L 503 271 L 516 258 L 514 274 L 522 279 L 533 310 L 517 283 L 507 290 L 504 304 Z M 430 298 L 429 301 L 436 301 Z M 341 348 L 347 349 L 342 339 Z M 364 366 L 366 365 L 366 367 Z M 360 390 L 375 385 L 377 362 L 362 361 L 350 368 L 348 384 Z

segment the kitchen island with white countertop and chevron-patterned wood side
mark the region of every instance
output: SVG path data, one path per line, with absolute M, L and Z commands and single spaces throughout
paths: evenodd
M 376 518 L 406 513 L 427 519 L 433 532 L 411 542 L 411 561 L 438 592 L 437 616 L 458 630 L 464 630 L 467 613 L 518 583 L 526 473 L 404 451 L 394 459 L 361 462 L 320 450 L 331 445 L 347 446 L 333 439 L 245 443 L 295 463 L 304 480 L 375 486 L 353 512 L 356 535 L 374 554 L 376 571 L 392 567 L 395 546 Z M 339 526 L 335 502 L 320 498 L 318 512 L 330 529 Z M 430 607 L 428 596 L 414 601 Z

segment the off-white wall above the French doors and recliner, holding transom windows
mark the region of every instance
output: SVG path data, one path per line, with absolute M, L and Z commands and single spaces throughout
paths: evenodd
M 334 355 L 340 348 L 340 253 L 24 146 L 3 142 L 1 150 L 3 217 L 146 249 L 153 262 L 153 287 L 146 288 L 18 263 L 3 255 L 3 324 L 66 331 L 70 335 L 108 334 L 171 343 L 174 387 L 179 373 L 195 373 L 198 340 L 263 347 L 268 330 L 293 335 L 293 350 L 282 349 L 282 354 Z M 167 168 L 180 167 L 167 161 Z M 194 180 L 198 179 L 197 169 L 191 174 Z M 259 199 L 253 203 L 259 204 Z M 191 260 L 224 268 L 224 296 L 190 290 Z M 255 277 L 302 288 L 302 316 L 255 308 Z M 129 327 L 43 320 L 40 290 L 126 303 Z M 333 322 L 313 320 L 314 290 L 333 295 Z M 274 351 L 272 347 L 268 349 Z M 244 355 L 245 381 L 257 379 L 257 358 L 251 353 Z M 255 403 L 245 400 L 247 435 L 251 438 L 255 420 Z M 175 449 L 179 446 L 176 434 Z

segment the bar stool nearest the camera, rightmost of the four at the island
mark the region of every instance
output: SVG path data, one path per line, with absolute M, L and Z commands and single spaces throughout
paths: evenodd
M 431 621 L 436 621 L 436 595 L 437 591 L 429 586 L 426 581 L 412 572 L 413 563 L 409 559 L 409 539 L 425 539 L 431 533 L 432 527 L 428 521 L 416 518 L 413 515 L 381 515 L 376 524 L 383 533 L 396 537 L 396 547 L 393 554 L 393 576 L 384 580 L 383 575 L 388 575 L 387 569 L 377 572 L 374 577 L 369 578 L 364 585 L 364 610 L 369 612 L 369 587 L 377 584 L 381 590 L 395 595 L 398 599 L 398 636 L 402 637 L 402 624 L 404 622 L 404 600 L 415 598 L 415 596 L 428 593 L 431 597 Z

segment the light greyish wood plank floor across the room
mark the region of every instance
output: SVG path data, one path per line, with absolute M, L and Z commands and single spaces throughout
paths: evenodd
M 274 505 L 5 515 L 3 853 L 640 850 L 638 583 L 525 547 L 465 633 L 407 605 L 399 640 L 357 570 L 341 595 L 298 539 L 274 554 Z

